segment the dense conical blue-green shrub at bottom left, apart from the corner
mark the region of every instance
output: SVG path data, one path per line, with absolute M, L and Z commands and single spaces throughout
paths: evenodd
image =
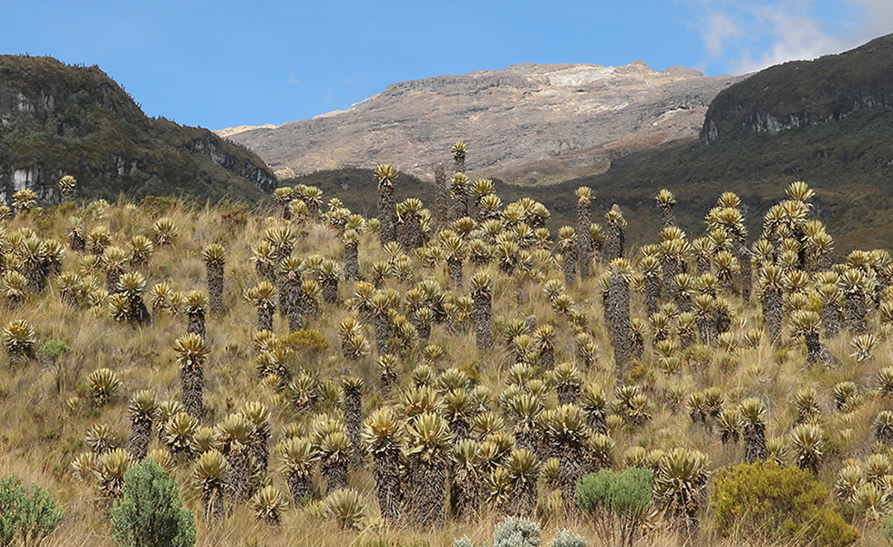
M 154 459 L 124 474 L 121 501 L 112 508 L 112 539 L 121 547 L 191 547 L 195 518 L 182 508 L 180 490 Z

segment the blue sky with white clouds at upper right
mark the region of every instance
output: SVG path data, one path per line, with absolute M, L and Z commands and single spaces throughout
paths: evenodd
M 30 0 L 3 18 L 0 52 L 96 64 L 150 116 L 221 129 L 516 63 L 740 74 L 893 32 L 893 0 Z

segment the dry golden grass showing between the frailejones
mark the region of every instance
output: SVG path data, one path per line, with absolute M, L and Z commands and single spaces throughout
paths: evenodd
M 174 290 L 204 290 L 204 263 L 200 251 L 208 243 L 223 243 L 227 248 L 226 294 L 227 314 L 223 317 L 208 315 L 208 344 L 211 348 L 205 366 L 205 397 L 202 425 L 213 425 L 231 410 L 241 408 L 245 402 L 260 400 L 272 409 L 271 447 L 278 441 L 282 427 L 295 419 L 289 408 L 277 405 L 274 393 L 264 387 L 255 371 L 251 348 L 251 336 L 255 332 L 255 311 L 242 294 L 256 284 L 258 279 L 250 262 L 251 244 L 269 226 L 282 224 L 281 220 L 265 216 L 266 212 L 254 212 L 248 216 L 244 226 L 233 226 L 222 220 L 224 211 L 212 207 L 189 209 L 181 205 L 172 206 L 159 214 L 176 222 L 179 237 L 172 247 L 156 250 L 149 267 L 142 271 L 148 287 L 158 282 L 167 282 Z M 149 211 L 128 207 L 119 202 L 108 210 L 108 216 L 90 219 L 85 211 L 72 211 L 71 207 L 56 208 L 43 212 L 32 212 L 4 222 L 7 232 L 31 227 L 44 238 L 65 241 L 69 214 L 84 215 L 87 231 L 98 225 L 108 226 L 113 233 L 113 243 L 125 248 L 127 239 L 135 234 L 150 235 L 155 220 Z M 157 214 L 156 216 L 159 216 Z M 633 218 L 630 222 L 635 222 Z M 693 236 L 692 236 L 693 237 Z M 341 260 L 343 246 L 338 232 L 322 224 L 305 229 L 305 233 L 295 245 L 294 254 L 305 256 L 321 253 L 324 256 Z M 628 253 L 630 255 L 630 253 Z M 361 270 L 385 258 L 377 235 L 365 232 L 360 244 Z M 81 267 L 78 253 L 68 252 L 63 263 L 63 271 L 77 271 Z M 587 379 L 605 387 L 608 394 L 613 392 L 614 372 L 611 345 L 608 333 L 602 322 L 600 288 L 598 275 L 603 271 L 598 264 L 590 280 L 573 284 L 567 293 L 576 303 L 580 313 L 588 318 L 588 330 L 600 346 L 600 357 L 596 366 L 585 371 Z M 433 277 L 448 286 L 446 270 L 443 266 L 435 270 L 416 269 L 420 278 Z M 474 272 L 467 264 L 465 279 Z M 495 323 L 501 319 L 523 318 L 536 315 L 539 324 L 550 323 L 557 326 L 556 362 L 575 360 L 573 332 L 566 318 L 557 315 L 542 294 L 541 283 L 529 278 L 508 278 L 498 273 L 493 266 L 488 272 L 495 279 L 493 290 L 493 317 Z M 96 273 L 104 282 L 104 275 Z M 546 274 L 549 278 L 561 278 L 560 269 L 551 266 Z M 520 280 L 526 279 L 526 280 Z M 405 292 L 412 284 L 399 284 L 395 280 L 387 286 Z M 467 287 L 450 287 L 460 294 L 467 294 Z M 344 300 L 353 294 L 353 284 L 341 282 L 340 303 L 325 306 L 320 319 L 310 321 L 308 326 L 318 329 L 328 338 L 331 346 L 319 355 L 299 354 L 298 366 L 320 372 L 322 377 L 337 379 L 345 374 L 364 378 L 367 387 L 364 395 L 364 414 L 368 415 L 382 397 L 377 393 L 377 371 L 375 351 L 373 355 L 351 366 L 344 365 L 338 342 L 338 323 L 352 312 L 344 306 Z M 149 304 L 149 294 L 146 295 Z M 759 325 L 756 301 L 742 303 L 734 301 L 738 310 L 740 333 Z M 88 309 L 67 309 L 60 303 L 55 284 L 50 284 L 42 294 L 34 295 L 18 308 L 2 304 L 0 316 L 6 321 L 23 318 L 36 326 L 37 346 L 47 340 L 58 339 L 67 343 L 71 351 L 59 358 L 57 368 L 34 361 L 25 365 L 11 365 L 5 356 L 0 358 L 0 476 L 13 474 L 26 482 L 35 482 L 49 490 L 66 510 L 66 516 L 59 528 L 44 544 L 46 545 L 111 545 L 108 522 L 109 502 L 102 499 L 97 490 L 73 478 L 71 460 L 78 453 L 87 450 L 84 436 L 87 428 L 97 422 L 114 425 L 126 437 L 129 430 L 127 401 L 133 392 L 149 388 L 161 400 L 180 399 L 180 378 L 176 364 L 173 341 L 186 329 L 184 315 L 155 315 L 150 325 L 131 326 L 117 323 L 107 314 L 94 314 Z M 632 293 L 632 315 L 645 318 L 642 294 Z M 878 318 L 870 317 L 872 328 L 880 330 Z M 275 318 L 277 334 L 287 333 L 286 322 L 278 315 Z M 374 347 L 375 335 L 366 328 L 365 335 Z M 480 364 L 481 382 L 498 393 L 504 386 L 510 361 L 504 351 L 505 342 L 495 336 L 491 351 L 478 353 L 473 329 L 448 335 L 441 325 L 435 325 L 430 343 L 446 348 L 448 358 L 438 363 L 437 369 L 448 366 Z M 667 387 L 678 385 L 686 393 L 704 387 L 721 387 L 725 394 L 725 404 L 734 405 L 746 397 L 761 397 L 767 404 L 767 438 L 787 438 L 794 423 L 791 397 L 799 387 L 815 387 L 821 397 L 823 408 L 822 427 L 829 435 L 829 449 L 823 462 L 819 479 L 826 485 L 833 484 L 837 470 L 847 459 L 864 459 L 871 453 L 874 439 L 871 421 L 881 409 L 889 408 L 889 401 L 869 396 L 866 401 L 848 414 L 834 410 L 832 389 L 840 381 L 852 380 L 870 391 L 874 378 L 893 357 L 893 345 L 884 341 L 875 352 L 872 362 L 857 363 L 850 353 L 849 338 L 846 334 L 828 344 L 831 351 L 841 359 L 837 368 L 826 370 L 818 366 L 806 367 L 805 350 L 797 343 L 790 342 L 774 348 L 764 340 L 755 348 L 741 348 L 734 354 L 726 355 L 723 350 L 714 348 L 713 358 L 708 366 L 694 370 L 683 366 L 683 372 L 668 377 L 657 366 L 657 358 L 646 343 L 642 364 L 653 374 L 651 381 L 642 381 L 646 393 L 652 398 L 653 418 L 640 428 L 613 432 L 617 444 L 615 467 L 622 467 L 624 452 L 633 446 L 647 449 L 670 449 L 686 447 L 699 449 L 709 455 L 710 469 L 741 461 L 740 445 L 724 446 L 718 435 L 704 428 L 694 426 L 685 409 L 672 412 L 666 404 L 664 392 Z M 412 367 L 420 362 L 416 356 L 404 360 L 399 371 L 400 382 L 406 385 Z M 100 367 L 116 371 L 122 383 L 117 399 L 103 408 L 92 408 L 89 403 L 87 375 Z M 61 370 L 61 372 L 58 372 Z M 554 405 L 554 395 L 549 404 Z M 330 409 L 334 409 L 330 407 Z M 846 439 L 841 432 L 849 430 Z M 149 449 L 159 446 L 153 437 Z M 198 511 L 198 494 L 189 482 L 189 469 L 181 467 L 175 472 L 182 485 L 182 496 L 187 506 Z M 279 463 L 272 454 L 270 480 L 284 489 L 284 480 Z M 368 513 L 367 526 L 362 531 L 342 532 L 333 523 L 314 516 L 307 509 L 290 509 L 284 516 L 282 529 L 272 529 L 254 520 L 244 506 L 231 508 L 225 524 L 209 526 L 197 519 L 198 544 L 205 545 L 451 545 L 453 538 L 469 535 L 477 544 L 489 540 L 497 517 L 492 511 L 485 514 L 482 521 L 474 524 L 449 522 L 435 532 L 422 532 L 414 528 L 385 529 L 377 518 L 374 480 L 367 461 L 364 468 L 352 472 L 351 487 L 364 497 Z M 544 494 L 545 495 L 545 494 Z M 662 532 L 662 521 L 654 522 L 651 532 L 642 544 L 675 547 L 677 545 L 750 545 L 747 538 L 723 539 L 712 528 L 708 500 L 702 503 L 702 531 L 695 538 L 681 538 L 675 534 Z M 575 532 L 586 535 L 590 545 L 600 544 L 595 531 L 585 519 L 565 521 L 560 515 L 540 515 L 544 523 L 545 540 L 550 540 L 554 531 L 570 527 Z M 877 521 L 858 522 L 865 545 L 882 542 Z M 784 545 L 785 543 L 779 543 Z M 761 547 L 768 547 L 760 543 Z

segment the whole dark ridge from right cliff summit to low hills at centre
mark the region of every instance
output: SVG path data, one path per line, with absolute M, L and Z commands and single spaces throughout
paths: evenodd
M 590 186 L 595 195 L 594 222 L 603 223 L 603 214 L 617 203 L 631 221 L 628 241 L 648 243 L 662 227 L 654 201 L 662 188 L 675 193 L 677 222 L 693 236 L 703 233 L 703 214 L 717 196 L 734 191 L 743 201 L 746 225 L 754 239 L 765 212 L 785 197 L 785 187 L 793 181 L 806 181 L 816 190 L 813 215 L 835 234 L 838 255 L 857 248 L 890 249 L 893 108 L 878 92 L 884 87 L 878 85 L 881 74 L 877 69 L 893 67 L 891 41 L 893 36 L 887 36 L 837 56 L 767 68 L 734 84 L 709 108 L 702 135 L 710 133 L 713 126 L 722 129 L 719 135 L 704 139 L 707 142 L 692 136 L 633 151 L 611 160 L 609 170 L 551 186 L 521 187 L 497 180 L 497 193 L 506 203 L 523 196 L 544 203 L 552 213 L 549 228 L 554 233 L 564 224 L 575 225 L 574 191 Z M 834 67 L 830 74 L 829 66 Z M 830 117 L 813 116 L 815 124 L 801 123 L 786 130 L 755 130 L 744 124 L 748 112 L 771 112 L 780 119 L 783 112 L 795 111 L 768 93 L 775 88 L 782 95 L 784 89 L 800 86 L 801 80 L 808 83 L 798 97 L 810 99 L 798 99 L 796 111 L 823 111 L 827 98 L 840 97 L 840 92 L 817 90 L 827 88 L 835 75 L 850 75 L 841 88 L 847 90 L 842 102 L 852 108 L 842 109 L 837 116 L 833 111 Z M 893 70 L 888 69 L 887 76 L 891 75 Z M 766 78 L 779 83 L 769 86 Z M 810 90 L 816 92 L 811 95 Z M 724 121 L 735 116 L 738 121 Z M 469 148 L 468 160 L 478 161 L 477 150 Z M 338 195 L 350 209 L 376 214 L 371 170 L 323 171 L 287 182 L 318 184 L 327 196 Z M 434 186 L 414 177 L 397 179 L 395 195 L 398 200 L 420 197 L 427 207 L 434 207 Z

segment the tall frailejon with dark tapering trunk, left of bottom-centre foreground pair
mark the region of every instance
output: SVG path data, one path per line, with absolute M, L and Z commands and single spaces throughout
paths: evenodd
M 363 425 L 363 441 L 374 462 L 375 494 L 386 523 L 400 518 L 400 446 L 403 424 L 389 407 L 379 408 Z

